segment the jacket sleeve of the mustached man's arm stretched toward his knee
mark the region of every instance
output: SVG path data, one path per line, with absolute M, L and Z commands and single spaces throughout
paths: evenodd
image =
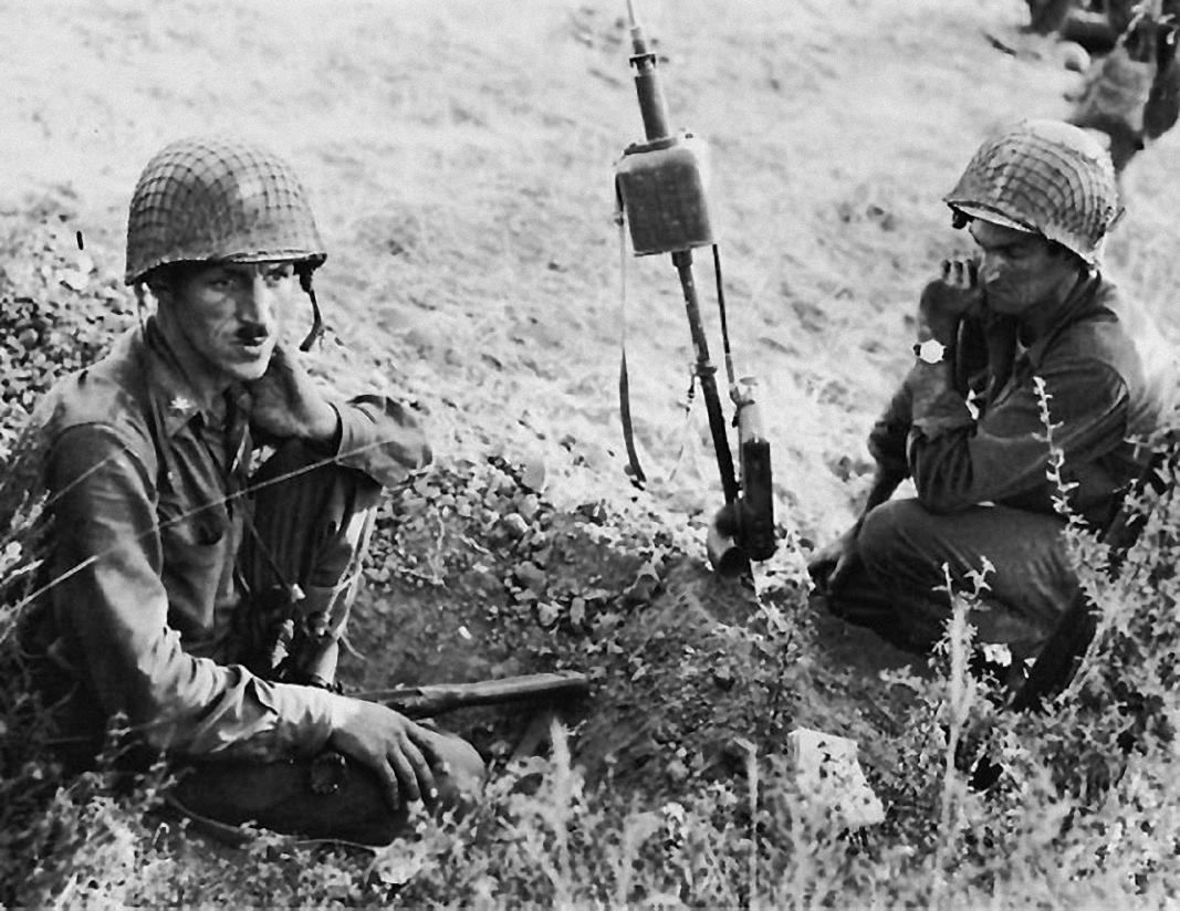
M 50 597 L 67 654 L 106 714 L 124 713 L 158 748 L 257 759 L 319 751 L 332 733 L 332 694 L 181 648 L 168 624 L 145 445 L 91 424 L 50 447 Z

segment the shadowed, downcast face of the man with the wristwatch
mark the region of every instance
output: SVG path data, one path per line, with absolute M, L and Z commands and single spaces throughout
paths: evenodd
M 1077 280 L 1077 262 L 1036 234 L 991 222 L 971 222 L 979 248 L 979 283 L 988 309 L 1020 316 L 1056 302 Z

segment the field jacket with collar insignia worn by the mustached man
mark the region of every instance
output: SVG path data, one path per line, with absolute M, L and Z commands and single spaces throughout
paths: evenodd
M 228 398 L 243 415 L 234 426 L 196 405 L 151 321 L 50 391 L 38 419 L 57 583 L 44 638 L 103 716 L 124 713 L 153 746 L 203 756 L 313 753 L 332 733 L 339 697 L 208 656 L 242 596 L 241 492 L 257 435 L 248 399 Z M 341 433 L 326 457 L 336 464 L 388 485 L 430 460 L 400 404 L 361 396 L 334 407 Z

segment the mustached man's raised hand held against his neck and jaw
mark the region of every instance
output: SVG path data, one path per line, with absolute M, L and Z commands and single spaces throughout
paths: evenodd
M 299 358 L 275 346 L 267 372 L 245 386 L 250 420 L 280 439 L 293 437 L 327 443 L 336 434 L 340 417 L 316 388 Z

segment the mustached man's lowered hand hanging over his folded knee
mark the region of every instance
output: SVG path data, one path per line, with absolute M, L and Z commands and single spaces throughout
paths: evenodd
M 389 806 L 433 802 L 438 797 L 432 763 L 433 735 L 427 728 L 376 702 L 340 696 L 335 703 L 330 745 L 362 762 L 381 781 Z

